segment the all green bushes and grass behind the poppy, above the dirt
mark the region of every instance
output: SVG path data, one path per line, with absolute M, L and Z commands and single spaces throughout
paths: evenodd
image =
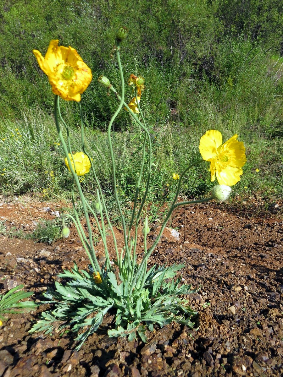
M 152 134 L 151 201 L 171 198 L 172 173 L 198 158 L 207 129 L 238 133 L 248 162 L 234 194 L 283 194 L 283 2 L 272 0 L 5 0 L 0 5 L 0 185 L 3 193 L 67 196 L 71 178 L 63 164 L 52 119 L 48 79 L 32 49 L 44 55 L 49 41 L 76 48 L 93 81 L 82 96 L 86 141 L 103 189 L 111 196 L 111 167 L 105 128 L 117 108 L 96 77 L 105 74 L 120 90 L 110 57 L 118 26 L 129 28 L 122 64 L 145 77 L 141 106 Z M 131 88 L 127 89 L 131 97 Z M 76 103 L 62 113 L 77 143 Z M 132 198 L 139 169 L 140 131 L 120 112 L 114 124 L 121 197 Z M 205 167 L 205 169 L 203 169 Z M 205 163 L 184 183 L 190 197 L 211 187 Z M 259 170 L 259 172 L 257 172 Z M 90 195 L 91 175 L 82 182 Z

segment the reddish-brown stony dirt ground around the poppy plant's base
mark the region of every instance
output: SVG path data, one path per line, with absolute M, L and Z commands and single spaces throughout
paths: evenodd
M 278 204 L 266 209 L 260 198 L 252 198 L 190 206 L 186 217 L 184 209 L 174 214 L 170 226 L 179 228 L 180 241 L 164 234 L 150 264 L 185 264 L 183 281 L 200 287 L 190 296 L 198 330 L 172 323 L 155 326 L 146 344 L 128 342 L 108 337 L 111 319 L 106 318 L 77 352 L 68 334 L 29 334 L 36 313 L 13 314 L 0 327 L 0 376 L 281 376 L 283 223 Z M 28 232 L 32 221 L 52 218 L 42 209 L 52 206 L 60 212 L 46 202 L 2 198 L 0 220 L 3 216 L 8 228 L 12 223 Z M 103 251 L 98 254 L 103 259 Z M 24 284 L 38 299 L 73 260 L 86 268 L 73 229 L 69 239 L 53 245 L 0 236 L 0 293 Z

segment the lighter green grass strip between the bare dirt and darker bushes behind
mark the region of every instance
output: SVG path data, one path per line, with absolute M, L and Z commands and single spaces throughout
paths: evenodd
M 280 196 L 283 182 L 282 139 L 266 137 L 257 129 L 249 130 L 249 116 L 241 107 L 234 107 L 234 115 L 231 109 L 228 114 L 221 114 L 215 110 L 215 103 L 203 98 L 199 99 L 197 107 L 198 116 L 203 120 L 200 123 L 204 124 L 196 123 L 194 127 L 187 128 L 170 121 L 151 128 L 154 166 L 148 203 L 172 199 L 177 184 L 172 174 L 180 175 L 189 162 L 200 158 L 198 144 L 207 129 L 219 130 L 223 134 L 223 142 L 238 133 L 239 140 L 246 146 L 247 163 L 241 181 L 233 187 L 234 193 L 244 193 L 248 187 L 252 193 L 265 193 L 270 198 Z M 69 200 L 71 175 L 65 166 L 61 146 L 57 145 L 52 118 L 39 113 L 37 120 L 26 116 L 22 122 L 6 121 L 3 128 L 5 131 L 0 136 L 2 192 L 17 195 L 35 192 L 43 199 Z M 118 192 L 120 198 L 127 202 L 134 196 L 142 135 L 135 129 L 132 132 L 114 132 L 112 139 Z M 80 129 L 77 127 L 71 128 L 71 140 L 72 150 L 79 151 Z M 87 127 L 85 142 L 102 188 L 111 197 L 113 187 L 107 136 Z M 193 168 L 183 182 L 182 192 L 189 197 L 206 195 L 213 185 L 208 169 L 208 162 Z M 255 169 L 260 171 L 257 173 Z M 96 185 L 91 173 L 85 175 L 82 186 L 87 195 L 94 195 Z

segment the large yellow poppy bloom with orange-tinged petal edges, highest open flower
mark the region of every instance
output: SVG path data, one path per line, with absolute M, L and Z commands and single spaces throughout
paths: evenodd
M 58 46 L 58 42 L 50 42 L 44 58 L 38 50 L 33 50 L 33 53 L 48 76 L 52 92 L 67 101 L 80 101 L 81 94 L 91 82 L 91 69 L 75 49 Z

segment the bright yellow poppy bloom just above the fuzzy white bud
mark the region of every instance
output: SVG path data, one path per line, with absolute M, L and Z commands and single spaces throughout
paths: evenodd
M 232 136 L 222 144 L 221 132 L 206 131 L 200 138 L 200 154 L 205 161 L 210 161 L 211 181 L 215 181 L 215 174 L 220 185 L 233 186 L 240 181 L 243 167 L 246 163 L 246 149 L 237 140 L 238 135 Z

